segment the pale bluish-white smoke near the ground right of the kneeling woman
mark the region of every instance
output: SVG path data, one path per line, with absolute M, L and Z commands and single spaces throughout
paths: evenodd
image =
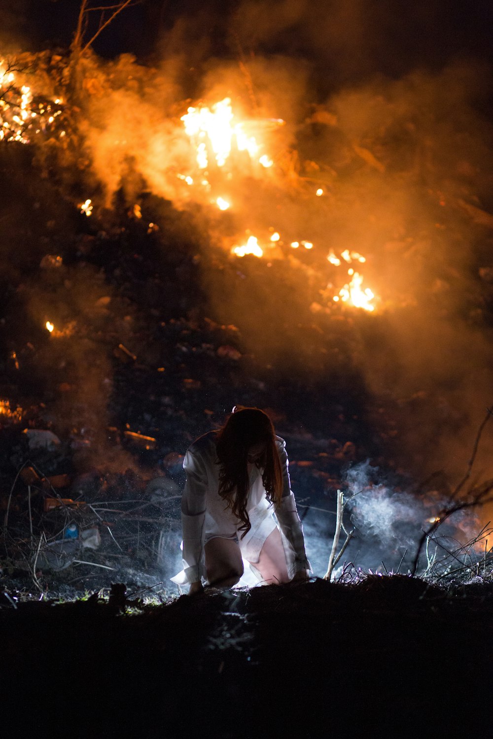
M 431 491 L 420 498 L 412 491 L 395 488 L 384 480 L 384 472 L 371 466 L 368 460 L 347 471 L 343 520 L 346 531 L 353 530 L 354 533 L 343 561 L 335 571 L 336 577 L 341 575 L 344 562 L 373 572 L 384 572 L 384 568 L 397 571 L 401 565 L 400 572 L 406 573 L 418 552 L 423 531 L 431 528 L 435 517 L 447 506 L 446 498 L 438 491 Z M 330 503 L 325 502 L 323 512 L 316 507 L 310 509 L 303 521 L 307 556 L 318 576 L 322 576 L 327 568 L 333 537 L 335 514 L 330 508 Z M 439 525 L 427 548 L 429 562 L 436 568 L 435 574 L 442 573 L 447 567 L 454 569 L 462 560 L 472 564 L 475 547 L 471 542 L 480 534 L 480 529 L 477 511 L 471 509 L 457 511 Z M 345 534 L 341 534 L 339 546 L 344 537 Z M 481 548 L 484 551 L 484 544 L 483 539 L 477 548 L 478 556 Z M 469 559 L 466 552 L 469 552 Z M 420 572 L 426 569 L 426 563 L 423 554 Z

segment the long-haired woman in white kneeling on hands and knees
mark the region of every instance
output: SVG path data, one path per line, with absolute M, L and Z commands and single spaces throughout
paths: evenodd
M 231 588 L 243 559 L 268 585 L 307 579 L 285 441 L 268 415 L 237 406 L 222 429 L 190 446 L 183 467 L 184 569 L 173 582 L 190 583 L 189 595 L 201 593 L 203 582 Z

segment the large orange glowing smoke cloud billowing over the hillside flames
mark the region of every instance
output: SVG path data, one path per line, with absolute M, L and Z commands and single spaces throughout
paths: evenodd
M 93 55 L 84 69 L 78 156 L 95 212 L 120 188 L 131 207 L 146 190 L 185 210 L 209 256 L 225 248 L 203 260 L 208 314 L 239 327 L 239 348 L 255 371 L 275 369 L 287 403 L 291 381 L 305 383 L 299 422 L 313 389 L 330 398 L 316 428 L 330 438 L 350 397 L 347 416 L 372 418 L 370 452 L 422 476 L 463 471 L 493 395 L 487 5 L 190 2 L 170 11 L 154 66 Z M 275 167 L 211 172 L 233 203 L 220 214 L 177 175 L 197 171 L 180 116 L 225 96 Z M 276 118 L 285 125 L 265 123 Z M 273 230 L 313 250 L 226 256 L 247 231 Z M 327 254 L 346 248 L 367 259 L 374 315 L 334 309 L 347 276 Z M 351 440 L 363 446 L 357 429 Z M 478 473 L 492 474 L 492 440 L 486 429 Z

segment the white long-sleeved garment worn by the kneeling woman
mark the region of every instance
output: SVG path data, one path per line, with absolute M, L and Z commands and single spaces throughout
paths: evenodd
M 201 436 L 188 449 L 183 468 L 186 485 L 182 496 L 183 570 L 171 578 L 177 585 L 207 582 L 204 545 L 215 537 L 237 542 L 242 558 L 251 564 L 257 579 L 262 579 L 254 568 L 265 539 L 277 527 L 281 532 L 288 576 L 299 570 L 311 571 L 305 552 L 302 524 L 290 488 L 288 454 L 285 441 L 276 437 L 276 446 L 282 465 L 282 499 L 274 507 L 266 496 L 262 473 L 254 466 L 250 474 L 247 513 L 251 528 L 242 538 L 242 521 L 228 508 L 219 494 L 220 463 L 216 452 L 216 433 Z

